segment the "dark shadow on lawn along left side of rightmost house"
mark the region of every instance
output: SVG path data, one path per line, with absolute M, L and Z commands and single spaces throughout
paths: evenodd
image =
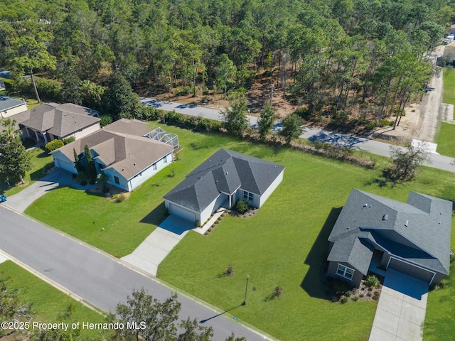
M 318 237 L 316 237 L 313 247 L 311 247 L 311 250 L 305 259 L 305 264 L 309 265 L 309 269 L 300 286 L 309 294 L 309 296 L 314 298 L 328 299 L 322 285 L 323 271 L 328 255 L 327 239 L 333 229 L 333 225 L 335 225 L 338 215 L 340 215 L 341 208 L 342 207 L 333 207 L 331 209 Z

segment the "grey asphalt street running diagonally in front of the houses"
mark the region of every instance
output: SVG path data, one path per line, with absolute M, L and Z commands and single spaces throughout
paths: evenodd
M 1 205 L 0 217 L 1 250 L 26 264 L 39 276 L 58 283 L 58 286 L 63 286 L 97 308 L 114 313 L 117 303 L 126 301 L 134 288 L 144 287 L 161 301 L 171 296 L 171 290 L 166 286 L 124 266 L 119 259 Z M 236 294 L 239 306 L 230 310 L 230 314 L 235 315 L 236 310 L 245 309 L 240 305 L 243 294 Z M 186 296 L 179 295 L 178 300 L 182 304 L 181 319 L 188 316 L 199 321 L 209 319 L 203 325 L 213 327 L 213 340 L 225 340 L 231 332 L 237 337 L 246 337 L 248 341 L 270 340 L 224 315 L 217 316 L 219 313 Z

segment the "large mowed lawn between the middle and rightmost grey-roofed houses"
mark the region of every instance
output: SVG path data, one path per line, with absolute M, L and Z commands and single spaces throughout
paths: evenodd
M 287 166 L 282 184 L 255 217 L 226 217 L 208 236 L 188 234 L 159 278 L 280 340 L 368 340 L 376 303 L 332 303 L 322 288 L 327 237 L 341 207 L 352 188 L 401 201 L 409 190 L 454 199 L 453 176 L 426 168 L 417 181 L 391 186 L 379 171 L 296 151 L 247 153 Z M 222 276 L 228 266 L 235 276 Z M 239 306 L 247 275 L 247 305 Z M 276 286 L 282 297 L 267 301 Z

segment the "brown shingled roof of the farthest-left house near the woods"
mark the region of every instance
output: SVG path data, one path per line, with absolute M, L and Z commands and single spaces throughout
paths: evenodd
M 21 115 L 20 123 L 36 131 L 46 131 L 58 137 L 65 137 L 92 126 L 100 121 L 97 112 L 80 105 L 48 103 L 27 110 Z

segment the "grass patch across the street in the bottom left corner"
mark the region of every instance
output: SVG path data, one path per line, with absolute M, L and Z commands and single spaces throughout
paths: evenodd
M 70 296 L 58 291 L 50 284 L 34 276 L 12 261 L 0 264 L 1 278 L 9 278 L 8 286 L 19 290 L 18 298 L 22 303 L 31 303 L 31 316 L 38 323 L 104 323 L 105 318 L 87 308 Z M 69 319 L 62 318 L 68 307 L 73 306 Z M 81 337 L 99 337 L 97 330 L 80 330 Z

